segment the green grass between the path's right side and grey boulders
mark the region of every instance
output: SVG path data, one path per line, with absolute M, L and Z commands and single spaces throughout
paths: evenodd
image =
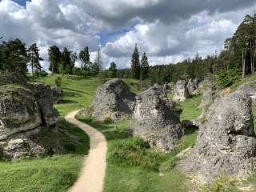
M 163 154 L 150 149 L 146 142 L 132 138 L 130 121 L 116 122 L 118 129 L 115 130 L 115 123 L 104 124 L 94 118 L 77 118 L 102 131 L 108 142 L 105 192 L 188 190 L 186 184 L 190 180 L 174 168 L 178 162 L 175 155 L 194 145 L 197 128 L 188 128 L 178 149 Z

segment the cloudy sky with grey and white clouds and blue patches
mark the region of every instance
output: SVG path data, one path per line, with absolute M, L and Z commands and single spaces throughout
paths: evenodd
M 134 45 L 151 66 L 205 57 L 223 49 L 255 0 L 0 0 L 0 36 L 37 42 L 48 68 L 49 46 L 90 47 L 103 66 L 130 67 Z

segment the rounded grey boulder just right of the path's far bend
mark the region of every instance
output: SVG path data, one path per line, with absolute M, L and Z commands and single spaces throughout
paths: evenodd
M 99 86 L 90 110 L 82 114 L 90 114 L 98 120 L 129 118 L 134 111 L 135 94 L 121 79 L 113 79 Z

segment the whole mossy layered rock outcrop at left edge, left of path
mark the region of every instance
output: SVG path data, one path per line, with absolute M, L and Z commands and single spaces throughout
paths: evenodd
M 0 86 L 0 150 L 6 158 L 15 160 L 46 153 L 33 140 L 43 130 L 53 130 L 58 120 L 50 86 L 39 83 L 26 87 Z

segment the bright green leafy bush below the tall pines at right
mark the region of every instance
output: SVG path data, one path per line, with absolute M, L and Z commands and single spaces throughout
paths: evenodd
M 219 86 L 222 88 L 226 88 L 228 86 L 231 86 L 235 80 L 238 79 L 239 72 L 236 69 L 231 69 L 228 72 L 226 70 L 222 70 L 218 72 L 217 80 Z

